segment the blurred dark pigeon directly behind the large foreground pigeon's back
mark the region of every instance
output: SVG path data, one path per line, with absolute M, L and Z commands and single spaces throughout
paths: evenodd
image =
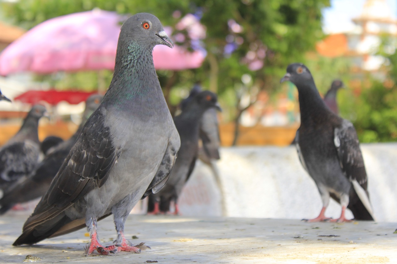
M 62 163 L 69 154 L 77 137 L 79 136 L 85 122 L 90 115 L 98 108 L 102 96 L 93 94 L 86 100 L 85 110 L 79 128 L 71 138 L 52 147 L 48 155 L 36 166 L 35 170 L 28 177 L 15 182 L 4 193 L 0 199 L 0 215 L 7 212 L 16 203 L 26 203 L 39 198 L 46 193 L 52 179 L 55 177 Z

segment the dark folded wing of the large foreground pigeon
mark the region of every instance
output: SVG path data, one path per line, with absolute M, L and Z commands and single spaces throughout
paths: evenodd
M 106 182 L 122 149 L 112 144 L 110 128 L 103 120 L 100 111 L 91 115 L 24 230 L 56 216 Z

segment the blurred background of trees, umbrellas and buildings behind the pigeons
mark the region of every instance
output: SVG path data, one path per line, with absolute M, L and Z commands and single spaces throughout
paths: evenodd
M 110 83 L 117 28 L 142 11 L 159 17 L 177 44 L 173 52 L 178 55 L 170 54 L 168 61 L 156 61 L 154 54 L 171 113 L 194 84 L 216 92 L 224 109 L 223 146 L 292 142 L 299 126 L 297 91 L 292 84 L 279 84 L 292 62 L 308 66 L 322 95 L 333 79 L 344 82 L 337 94 L 339 114 L 353 122 L 362 143 L 397 140 L 394 0 L 170 0 L 145 5 L 2 0 L 0 8 L 0 89 L 13 100 L 0 103 L 0 145 L 38 101 L 51 109 L 51 119 L 40 121 L 40 139 L 49 134 L 69 138 L 83 101 L 93 92 L 104 93 Z M 82 11 L 87 11 L 85 18 L 64 16 Z M 64 17 L 52 19 L 59 16 Z M 79 19 L 90 25 L 78 28 L 81 36 L 68 31 Z M 75 42 L 62 44 L 57 41 L 61 35 Z M 98 50 L 86 49 L 92 43 Z

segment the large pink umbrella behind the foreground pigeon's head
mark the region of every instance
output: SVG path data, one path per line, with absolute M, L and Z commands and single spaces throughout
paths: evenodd
M 0 54 L 0 75 L 31 71 L 81 71 L 114 69 L 121 22 L 115 12 L 93 10 L 48 19 L 25 33 Z M 156 69 L 200 67 L 205 54 L 157 46 Z

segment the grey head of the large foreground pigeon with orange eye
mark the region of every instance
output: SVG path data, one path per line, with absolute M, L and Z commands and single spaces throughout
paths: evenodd
M 120 39 L 132 42 L 139 40 L 140 45 L 153 49 L 161 44 L 173 47 L 172 40 L 164 31 L 160 20 L 149 13 L 138 13 L 127 19 L 121 26 Z

